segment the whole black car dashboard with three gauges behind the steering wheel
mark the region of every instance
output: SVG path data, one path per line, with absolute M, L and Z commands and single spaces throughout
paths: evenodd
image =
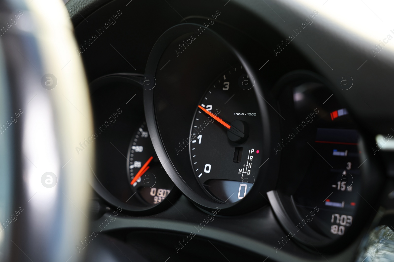
M 331 2 L 70 0 L 89 240 L 141 261 L 390 261 L 392 49 Z

